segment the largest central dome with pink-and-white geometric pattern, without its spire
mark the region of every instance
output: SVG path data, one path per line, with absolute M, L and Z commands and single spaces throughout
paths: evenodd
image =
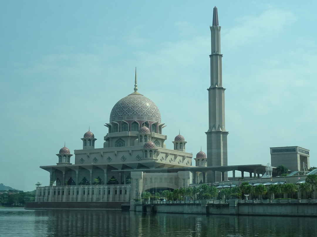
M 121 120 L 142 120 L 161 123 L 159 108 L 141 94 L 130 94 L 120 99 L 112 108 L 110 123 Z

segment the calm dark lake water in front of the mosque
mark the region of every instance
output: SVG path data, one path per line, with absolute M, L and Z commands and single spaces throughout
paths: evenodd
M 0 208 L 0 236 L 314 236 L 317 218 Z

